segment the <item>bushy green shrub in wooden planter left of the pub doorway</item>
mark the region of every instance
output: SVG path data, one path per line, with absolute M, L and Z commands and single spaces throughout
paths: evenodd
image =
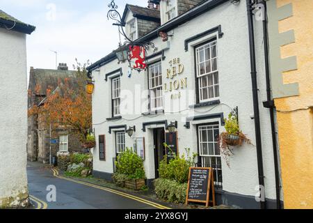
M 132 148 L 127 148 L 124 153 L 120 153 L 115 164 L 118 174 L 125 174 L 127 178 L 134 180 L 145 178 L 143 160 Z

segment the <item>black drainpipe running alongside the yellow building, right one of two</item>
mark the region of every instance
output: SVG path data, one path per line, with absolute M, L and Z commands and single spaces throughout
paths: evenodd
M 275 118 L 274 118 L 274 109 L 275 103 L 271 95 L 271 78 L 270 78 L 270 69 L 269 69 L 269 56 L 268 56 L 268 26 L 267 26 L 267 13 L 266 13 L 266 1 L 262 0 L 264 5 L 264 20 L 263 20 L 263 36 L 264 36 L 264 56 L 265 56 L 265 75 L 266 75 L 266 95 L 267 101 L 263 102 L 264 107 L 269 109 L 270 118 L 271 118 L 271 134 L 273 141 L 273 154 L 274 154 L 274 169 L 275 169 L 275 187 L 276 187 L 276 208 L 281 209 L 280 203 L 280 167 L 279 167 L 279 157 L 278 157 L 278 148 L 277 148 L 277 138 L 275 130 Z

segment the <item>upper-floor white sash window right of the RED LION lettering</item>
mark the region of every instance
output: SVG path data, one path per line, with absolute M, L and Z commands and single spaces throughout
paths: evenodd
M 220 96 L 216 40 L 197 47 L 195 55 L 199 102 L 215 100 Z

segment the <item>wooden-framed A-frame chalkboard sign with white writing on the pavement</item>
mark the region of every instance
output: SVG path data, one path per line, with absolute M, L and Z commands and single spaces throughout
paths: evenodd
M 189 169 L 186 205 L 189 202 L 205 203 L 206 207 L 209 207 L 209 203 L 216 206 L 212 168 L 191 167 Z

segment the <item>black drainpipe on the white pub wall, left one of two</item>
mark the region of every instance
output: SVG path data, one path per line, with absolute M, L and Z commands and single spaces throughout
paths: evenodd
M 257 89 L 257 68 L 255 61 L 255 33 L 253 28 L 253 13 L 252 5 L 255 0 L 246 0 L 247 2 L 247 13 L 248 13 L 248 31 L 249 31 L 249 42 L 250 42 L 250 63 L 251 63 L 251 82 L 252 82 L 252 97 L 253 97 L 253 109 L 255 115 L 255 139 L 257 144 L 257 169 L 259 174 L 259 185 L 265 188 L 264 184 L 264 167 L 263 167 L 263 155 L 262 155 L 262 138 L 261 138 L 261 125 L 259 120 L 259 96 Z M 265 189 L 263 191 L 265 193 Z M 260 208 L 266 208 L 266 201 L 260 201 Z

